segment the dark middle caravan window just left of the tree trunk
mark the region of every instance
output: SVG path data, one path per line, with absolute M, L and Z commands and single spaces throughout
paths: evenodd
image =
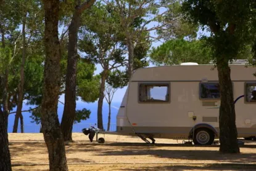
M 218 84 L 218 82 L 201 82 L 200 98 L 220 99 L 220 85 Z

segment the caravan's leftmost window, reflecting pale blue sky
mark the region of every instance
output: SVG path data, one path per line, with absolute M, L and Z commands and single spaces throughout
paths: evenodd
M 168 102 L 170 84 L 143 83 L 139 84 L 140 102 Z

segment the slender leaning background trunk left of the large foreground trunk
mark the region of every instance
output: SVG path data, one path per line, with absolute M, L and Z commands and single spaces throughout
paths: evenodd
M 24 67 L 25 67 L 25 60 L 26 60 L 26 19 L 27 19 L 27 12 L 25 12 L 25 15 L 23 17 L 22 22 L 22 64 L 20 65 L 20 82 L 19 82 L 19 99 L 18 99 L 18 105 L 17 105 L 17 112 L 15 114 L 15 120 L 14 120 L 14 130 L 13 133 L 17 133 L 18 125 L 19 125 L 19 118 L 22 114 L 22 103 L 23 103 L 23 87 L 24 87 Z

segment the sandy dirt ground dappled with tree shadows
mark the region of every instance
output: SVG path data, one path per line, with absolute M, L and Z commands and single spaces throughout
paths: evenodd
M 256 170 L 256 141 L 245 141 L 241 154 L 220 154 L 219 146 L 183 145 L 182 140 L 100 135 L 104 144 L 73 133 L 66 144 L 69 170 Z M 13 170 L 49 170 L 42 133 L 9 133 Z

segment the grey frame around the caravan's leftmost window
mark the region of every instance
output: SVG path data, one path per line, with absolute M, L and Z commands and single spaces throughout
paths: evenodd
M 168 92 L 168 100 L 167 101 L 141 101 L 140 98 L 140 86 L 141 85 L 151 85 L 151 86 L 167 86 L 167 92 Z M 171 102 L 171 83 L 170 82 L 159 82 L 159 81 L 149 81 L 149 82 L 138 82 L 138 103 L 170 103 Z

